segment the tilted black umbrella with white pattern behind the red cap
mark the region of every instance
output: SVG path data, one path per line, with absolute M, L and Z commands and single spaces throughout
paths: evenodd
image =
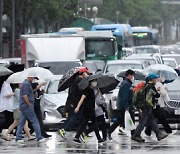
M 72 68 L 67 71 L 59 81 L 58 91 L 63 91 L 71 86 L 73 81 L 75 80 L 76 75 L 78 74 L 79 68 Z

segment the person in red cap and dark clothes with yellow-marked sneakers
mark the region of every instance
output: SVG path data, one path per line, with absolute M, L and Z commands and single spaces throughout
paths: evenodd
M 83 92 L 82 90 L 78 88 L 78 83 L 83 78 L 88 77 L 90 74 L 91 73 L 86 67 L 80 67 L 77 77 L 75 78 L 71 87 L 69 87 L 68 97 L 67 97 L 66 106 L 65 106 L 65 111 L 66 113 L 68 113 L 67 121 L 65 122 L 63 128 L 57 131 L 57 133 L 64 139 L 67 139 L 66 131 L 72 130 L 76 125 L 79 124 L 79 122 L 82 119 L 83 108 L 81 108 L 81 110 L 78 113 L 74 112 L 74 109 L 77 106 L 79 100 L 81 99 L 82 92 Z

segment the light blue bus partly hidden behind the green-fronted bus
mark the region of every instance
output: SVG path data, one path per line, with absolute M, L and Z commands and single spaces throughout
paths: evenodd
M 129 24 L 104 24 L 94 25 L 91 31 L 111 31 L 118 45 L 118 59 L 123 56 L 122 47 L 133 46 L 133 35 Z

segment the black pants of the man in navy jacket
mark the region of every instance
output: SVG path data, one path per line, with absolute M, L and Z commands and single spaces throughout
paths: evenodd
M 129 109 L 129 113 L 130 113 L 130 115 L 131 115 L 131 118 L 132 118 L 133 122 L 135 123 L 134 110 Z M 121 126 L 121 127 L 125 128 L 124 116 L 125 116 L 125 109 L 120 110 L 118 119 L 117 119 L 115 122 L 113 122 L 113 124 L 110 126 L 110 128 L 109 128 L 109 130 L 108 130 L 108 133 L 114 132 L 114 130 L 115 130 L 118 126 Z M 131 134 L 132 134 L 132 135 L 133 135 L 133 133 L 134 133 L 134 130 L 131 131 Z

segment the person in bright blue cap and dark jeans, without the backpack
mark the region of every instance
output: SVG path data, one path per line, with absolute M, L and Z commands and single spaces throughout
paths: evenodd
M 157 79 L 159 76 L 155 73 L 150 73 L 146 77 L 146 87 L 145 87 L 145 100 L 146 105 L 141 109 L 141 119 L 139 121 L 138 126 L 136 127 L 136 130 L 132 136 L 132 140 L 135 140 L 137 142 L 144 142 L 145 140 L 141 137 L 141 132 L 143 131 L 145 125 L 150 125 L 152 130 L 155 132 L 157 140 L 160 141 L 167 137 L 167 134 L 162 134 L 158 128 L 157 122 L 155 120 L 155 117 L 153 115 L 153 107 L 158 101 L 158 98 L 160 97 L 160 94 L 158 91 L 160 91 L 160 88 L 155 88 L 155 84 L 157 82 Z

